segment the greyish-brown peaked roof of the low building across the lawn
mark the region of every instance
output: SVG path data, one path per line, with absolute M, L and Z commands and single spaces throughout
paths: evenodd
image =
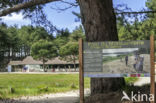
M 10 61 L 9 65 L 40 65 L 43 64 L 42 61 L 34 60 L 32 56 L 27 56 L 22 61 Z M 48 60 L 45 64 L 73 64 L 72 62 L 67 62 L 64 60 L 59 59 L 59 57 L 56 57 L 54 59 Z M 78 64 L 78 61 L 76 61 L 76 64 Z

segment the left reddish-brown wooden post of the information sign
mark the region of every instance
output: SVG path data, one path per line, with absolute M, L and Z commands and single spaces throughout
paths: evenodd
M 79 39 L 79 89 L 80 103 L 84 103 L 83 40 Z

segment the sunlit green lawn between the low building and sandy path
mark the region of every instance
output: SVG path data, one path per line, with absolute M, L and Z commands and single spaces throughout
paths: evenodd
M 90 79 L 85 78 L 85 88 Z M 0 98 L 33 96 L 79 89 L 78 74 L 1 74 Z

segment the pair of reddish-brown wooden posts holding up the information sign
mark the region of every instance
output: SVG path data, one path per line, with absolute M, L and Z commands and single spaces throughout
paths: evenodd
M 154 35 L 150 36 L 150 93 L 154 95 L 155 101 L 155 48 L 154 48 Z M 79 39 L 79 93 L 80 103 L 84 103 L 84 68 L 83 68 L 83 40 Z

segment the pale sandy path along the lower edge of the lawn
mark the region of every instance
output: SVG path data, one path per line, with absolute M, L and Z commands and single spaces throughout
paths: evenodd
M 89 95 L 90 90 L 85 89 L 85 95 Z M 76 103 L 79 101 L 79 90 L 46 94 L 41 96 L 21 97 L 10 100 L 0 100 L 0 103 Z

